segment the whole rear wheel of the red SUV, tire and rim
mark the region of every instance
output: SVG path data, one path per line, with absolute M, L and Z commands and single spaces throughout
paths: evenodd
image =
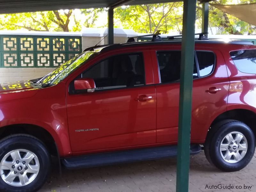
M 255 136 L 246 124 L 230 120 L 220 125 L 206 150 L 217 168 L 228 172 L 238 171 L 253 157 Z

